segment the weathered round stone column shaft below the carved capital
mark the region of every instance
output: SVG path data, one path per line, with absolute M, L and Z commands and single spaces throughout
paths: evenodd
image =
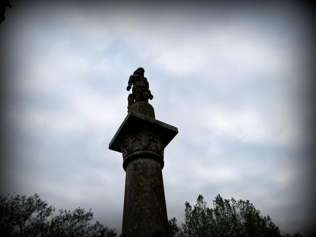
M 138 158 L 127 166 L 122 236 L 168 236 L 163 175 L 156 160 Z

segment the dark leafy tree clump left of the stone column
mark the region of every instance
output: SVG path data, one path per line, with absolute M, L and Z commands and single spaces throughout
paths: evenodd
M 91 225 L 91 209 L 76 208 L 74 211 L 59 210 L 53 216 L 55 208 L 37 194 L 26 198 L 17 195 L 0 196 L 0 235 L 1 236 L 78 236 L 78 237 L 116 237 L 114 229 L 109 229 L 96 221 Z M 48 217 L 50 219 L 48 220 Z

